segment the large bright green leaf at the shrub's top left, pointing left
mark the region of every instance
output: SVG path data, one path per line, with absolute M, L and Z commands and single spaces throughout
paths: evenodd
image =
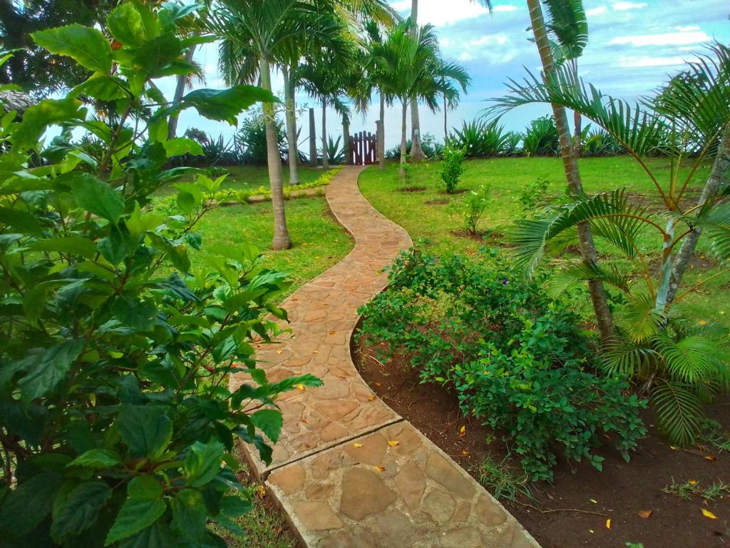
M 112 47 L 96 28 L 74 23 L 31 34 L 34 42 L 56 55 L 72 58 L 91 72 L 109 72 Z

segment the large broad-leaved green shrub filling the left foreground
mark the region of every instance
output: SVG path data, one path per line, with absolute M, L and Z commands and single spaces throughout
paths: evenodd
M 152 80 L 186 66 L 176 33 L 189 13 L 119 4 L 109 18 L 113 53 L 96 28 L 34 34 L 96 72 L 74 93 L 114 96 L 122 114 L 88 119 L 69 96 L 28 108 L 20 123 L 0 121 L 11 150 L 1 158 L 0 197 L 4 546 L 220 546 L 207 523 L 240 533 L 234 520 L 250 508 L 234 471 L 235 438 L 270 462 L 282 427 L 274 398 L 293 384 L 320 384 L 270 382 L 256 368 L 253 341 L 280 332 L 269 316 L 285 318 L 274 303 L 288 282 L 262 269 L 253 246 L 212 248 L 210 271 L 191 272 L 188 249 L 201 248 L 195 224 L 215 207 L 223 178 L 164 169 L 170 157 L 201 150 L 188 138 L 167 140 L 167 118 L 196 107 L 231 121 L 275 99 L 239 85 L 164 102 Z M 142 115 L 148 131 L 135 134 L 125 121 Z M 93 133 L 101 160 L 69 148 L 28 170 L 27 151 L 51 123 Z M 184 174 L 197 176 L 177 182 L 174 215 L 147 207 Z M 231 392 L 233 372 L 250 380 Z

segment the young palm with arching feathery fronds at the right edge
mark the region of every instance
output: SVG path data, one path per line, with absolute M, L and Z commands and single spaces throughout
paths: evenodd
M 625 339 L 607 341 L 602 361 L 612 375 L 629 376 L 650 393 L 658 425 L 675 444 L 691 444 L 702 425 L 702 403 L 718 389 L 728 389 L 729 357 L 706 321 L 691 325 L 681 319 L 669 300 L 676 249 L 688 235 L 702 229 L 721 263 L 730 260 L 730 184 L 718 182 L 705 191 L 698 204 L 686 207 L 685 194 L 693 186 L 704 161 L 722 158 L 718 140 L 730 126 L 730 49 L 715 44 L 710 53 L 688 65 L 694 77 L 685 80 L 682 93 L 659 94 L 661 104 L 646 99 L 629 104 L 605 96 L 583 83 L 565 67 L 556 70 L 550 83 L 530 75 L 523 83 L 512 81 L 512 94 L 499 99 L 499 110 L 528 103 L 552 103 L 575 110 L 621 143 L 639 162 L 664 205 L 658 213 L 631 205 L 622 190 L 558 208 L 548 218 L 518 221 L 512 234 L 518 243 L 518 260 L 528 271 L 537 267 L 546 248 L 580 223 L 588 223 L 601 238 L 637 266 L 638 276 L 593 263 L 571 267 L 575 277 L 600 280 L 615 287 L 625 304 L 618 325 Z M 662 170 L 645 162 L 650 154 L 669 158 L 668 180 Z M 680 164 L 688 162 L 688 175 L 680 176 Z M 708 184 L 712 181 L 710 177 Z M 661 241 L 658 274 L 653 273 L 639 240 L 654 232 Z M 721 270 L 712 278 L 730 272 Z M 708 278 L 708 280 L 711 278 Z M 675 302 L 696 290 L 702 281 L 677 296 Z

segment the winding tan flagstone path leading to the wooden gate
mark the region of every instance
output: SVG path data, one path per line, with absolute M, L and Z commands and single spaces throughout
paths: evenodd
M 258 354 L 272 380 L 312 373 L 324 385 L 280 398 L 284 427 L 271 465 L 245 447 L 247 458 L 305 547 L 539 548 L 353 365 L 357 310 L 385 288 L 383 267 L 412 245 L 362 197 L 361 170 L 346 167 L 326 190 L 355 248 L 283 302 L 293 337 Z M 242 381 L 232 378 L 231 387 Z

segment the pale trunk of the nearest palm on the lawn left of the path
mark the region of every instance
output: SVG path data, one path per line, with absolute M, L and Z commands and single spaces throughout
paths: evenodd
M 262 57 L 259 61 L 261 72 L 261 87 L 272 91 L 272 76 L 269 60 Z M 272 190 L 272 206 L 274 209 L 274 240 L 272 248 L 291 248 L 291 238 L 286 227 L 286 213 L 284 211 L 283 175 L 281 170 L 281 153 L 277 142 L 276 126 L 274 125 L 274 105 L 264 103 L 264 124 L 266 125 L 266 160 L 269 164 L 269 184 Z

